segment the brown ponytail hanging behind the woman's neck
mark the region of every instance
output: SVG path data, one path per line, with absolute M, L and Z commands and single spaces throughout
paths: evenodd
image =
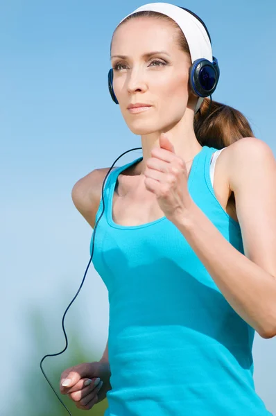
M 230 105 L 205 98 L 195 114 L 193 128 L 202 146 L 222 149 L 243 137 L 254 137 L 249 121 Z M 207 116 L 207 114 L 209 115 Z

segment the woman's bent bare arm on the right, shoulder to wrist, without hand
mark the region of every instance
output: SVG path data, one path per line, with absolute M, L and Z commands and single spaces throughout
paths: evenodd
M 225 239 L 194 202 L 174 224 L 236 313 L 262 338 L 273 338 L 276 336 L 275 157 L 270 147 L 255 137 L 232 143 L 224 155 L 228 157 L 229 184 L 236 200 L 245 254 Z

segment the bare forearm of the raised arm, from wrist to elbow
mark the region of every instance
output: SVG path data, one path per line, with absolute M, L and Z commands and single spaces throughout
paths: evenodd
M 236 250 L 195 203 L 172 222 L 236 313 L 270 338 L 276 326 L 275 277 Z

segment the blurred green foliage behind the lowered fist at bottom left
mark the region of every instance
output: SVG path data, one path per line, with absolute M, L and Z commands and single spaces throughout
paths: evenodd
M 60 328 L 60 331 L 64 341 L 62 346 L 53 352 L 54 334 L 49 333 L 47 336 L 42 310 L 37 311 L 36 309 L 28 312 L 26 320 L 30 329 L 28 337 L 30 344 L 33 345 L 33 349 L 30 351 L 30 356 L 24 357 L 24 361 L 22 359 L 19 361 L 19 378 L 17 377 L 17 383 L 19 383 L 22 398 L 17 400 L 15 395 L 14 403 L 10 403 L 9 414 L 3 416 L 18 416 L 19 413 L 21 416 L 69 416 L 69 413 L 62 406 L 58 397 L 56 397 L 40 369 L 40 361 L 43 356 L 55 354 L 64 349 L 65 338 L 62 328 Z M 80 410 L 76 407 L 74 401 L 66 395 L 60 394 L 60 375 L 64 370 L 80 363 L 98 361 L 93 352 L 87 356 L 82 345 L 80 345 L 77 325 L 74 328 L 68 328 L 65 320 L 64 326 L 69 343 L 67 350 L 61 355 L 46 357 L 42 363 L 42 368 L 53 385 L 55 392 L 58 393 L 60 399 L 69 408 L 72 416 L 85 416 L 86 414 L 103 416 L 105 409 L 108 407 L 107 399 L 94 405 L 90 410 Z M 15 386 L 12 386 L 12 388 L 15 388 Z

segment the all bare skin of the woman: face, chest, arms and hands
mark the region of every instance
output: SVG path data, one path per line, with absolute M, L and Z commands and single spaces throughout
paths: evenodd
M 143 54 L 150 51 L 166 51 L 169 56 L 158 53 L 144 58 Z M 192 159 L 202 149 L 193 130 L 198 98 L 189 90 L 190 57 L 180 50 L 175 42 L 175 29 L 166 21 L 160 24 L 160 21 L 147 18 L 126 22 L 114 33 L 111 55 L 112 67 L 120 64 L 118 71 L 114 69 L 113 86 L 123 119 L 135 135 L 141 136 L 143 149 L 143 160 L 118 176 L 112 215 L 116 223 L 135 225 L 164 216 L 164 211 L 169 212 L 172 202 L 168 206 L 163 204 L 162 210 L 155 193 L 150 191 L 150 188 L 156 191 L 155 182 L 146 181 L 155 175 L 158 180 L 159 172 L 162 172 L 160 166 L 164 166 L 166 158 L 166 162 L 178 165 L 174 175 L 182 178 L 178 189 L 184 189 L 183 180 L 187 179 Z M 114 55 L 126 55 L 127 58 L 115 58 Z M 164 62 L 164 65 L 154 60 Z M 137 102 L 153 107 L 146 112 L 131 114 L 127 107 Z M 164 139 L 162 133 L 166 133 L 169 141 Z M 159 159 L 158 165 L 153 164 L 154 158 Z M 81 178 L 72 190 L 76 208 L 93 228 L 102 183 L 108 170 L 92 171 Z M 191 210 L 193 215 L 189 232 L 182 225 L 191 247 L 227 301 L 264 338 L 272 338 L 276 333 L 275 174 L 273 153 L 256 138 L 236 141 L 227 146 L 217 159 L 214 192 L 223 209 L 234 220 L 239 217 L 246 257 L 236 252 L 196 207 Z M 230 201 L 233 194 L 236 206 L 235 201 Z M 184 200 L 183 195 L 180 200 Z M 204 229 L 207 231 L 203 232 Z M 259 302 L 259 299 L 264 302 Z M 65 388 L 62 381 L 67 377 L 71 383 Z M 94 388 L 96 377 L 103 380 L 101 390 Z M 92 383 L 86 387 L 84 383 L 88 379 L 92 379 Z M 106 345 L 101 361 L 81 363 L 64 370 L 60 392 L 69 395 L 76 402 L 76 407 L 88 410 L 105 398 L 111 388 L 109 380 Z

